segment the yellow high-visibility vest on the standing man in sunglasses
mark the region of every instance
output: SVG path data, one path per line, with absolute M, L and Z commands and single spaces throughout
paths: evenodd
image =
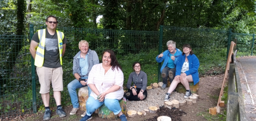
M 58 37 L 58 45 L 59 45 L 59 52 L 60 52 L 60 61 L 62 65 L 62 40 L 64 38 L 63 32 L 56 30 L 57 37 Z M 44 63 L 44 48 L 45 48 L 45 37 L 46 37 L 46 29 L 38 30 L 38 38 L 40 40 L 37 46 L 37 52 L 35 57 L 35 66 L 42 67 Z

